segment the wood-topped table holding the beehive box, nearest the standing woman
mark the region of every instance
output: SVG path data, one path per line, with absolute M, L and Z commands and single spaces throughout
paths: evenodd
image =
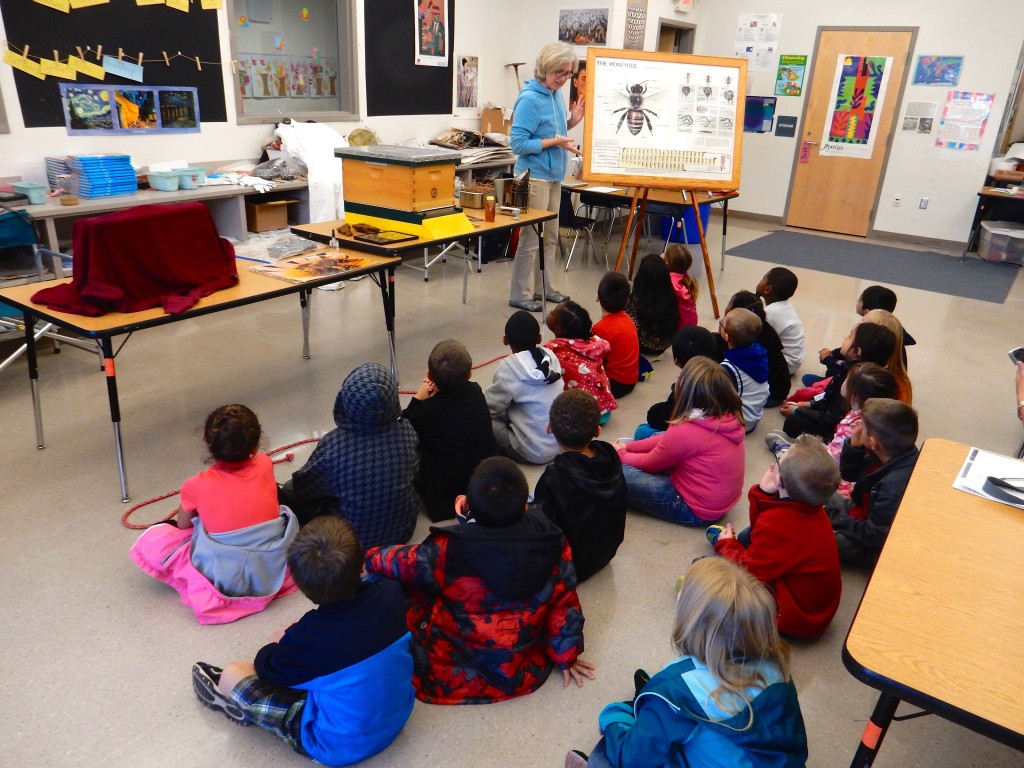
M 520 213 L 518 218 L 508 214 L 498 213 L 495 215 L 494 221 L 484 221 L 482 208 L 474 208 L 470 210 L 472 210 L 473 213 L 466 213 L 466 211 L 463 212 L 466 213 L 466 217 L 472 222 L 473 231 L 465 234 L 455 234 L 433 240 L 419 238 L 417 240 L 407 240 L 401 243 L 394 243 L 390 245 L 375 245 L 361 240 L 354 240 L 353 238 L 336 234 L 335 230 L 337 227 L 344 223 L 342 220 L 321 221 L 315 224 L 296 224 L 292 227 L 292 232 L 294 234 L 298 234 L 300 238 L 308 238 L 309 240 L 314 240 L 318 243 L 330 243 L 331 239 L 334 237 L 337 238 L 338 245 L 342 249 L 350 251 L 364 251 L 366 253 L 373 253 L 380 256 L 394 256 L 403 260 L 412 256 L 418 256 L 420 249 L 430 248 L 432 246 L 441 246 L 443 248 L 456 243 L 461 244 L 466 250 L 466 265 L 462 272 L 463 304 L 466 303 L 466 289 L 469 281 L 469 262 L 473 260 L 473 251 L 474 249 L 479 248 L 478 244 L 480 239 L 485 234 L 497 234 L 499 232 L 509 231 L 510 229 L 518 229 L 521 226 L 532 226 L 537 229 L 539 234 L 540 267 L 541 271 L 544 271 L 544 236 L 542 230 L 545 221 L 558 218 L 558 214 L 555 211 L 531 209 L 526 213 Z M 401 230 L 400 221 L 395 222 L 395 228 L 399 231 Z M 477 257 L 479 258 L 479 254 L 477 254 Z M 479 271 L 480 268 L 480 266 L 477 266 L 477 271 Z

